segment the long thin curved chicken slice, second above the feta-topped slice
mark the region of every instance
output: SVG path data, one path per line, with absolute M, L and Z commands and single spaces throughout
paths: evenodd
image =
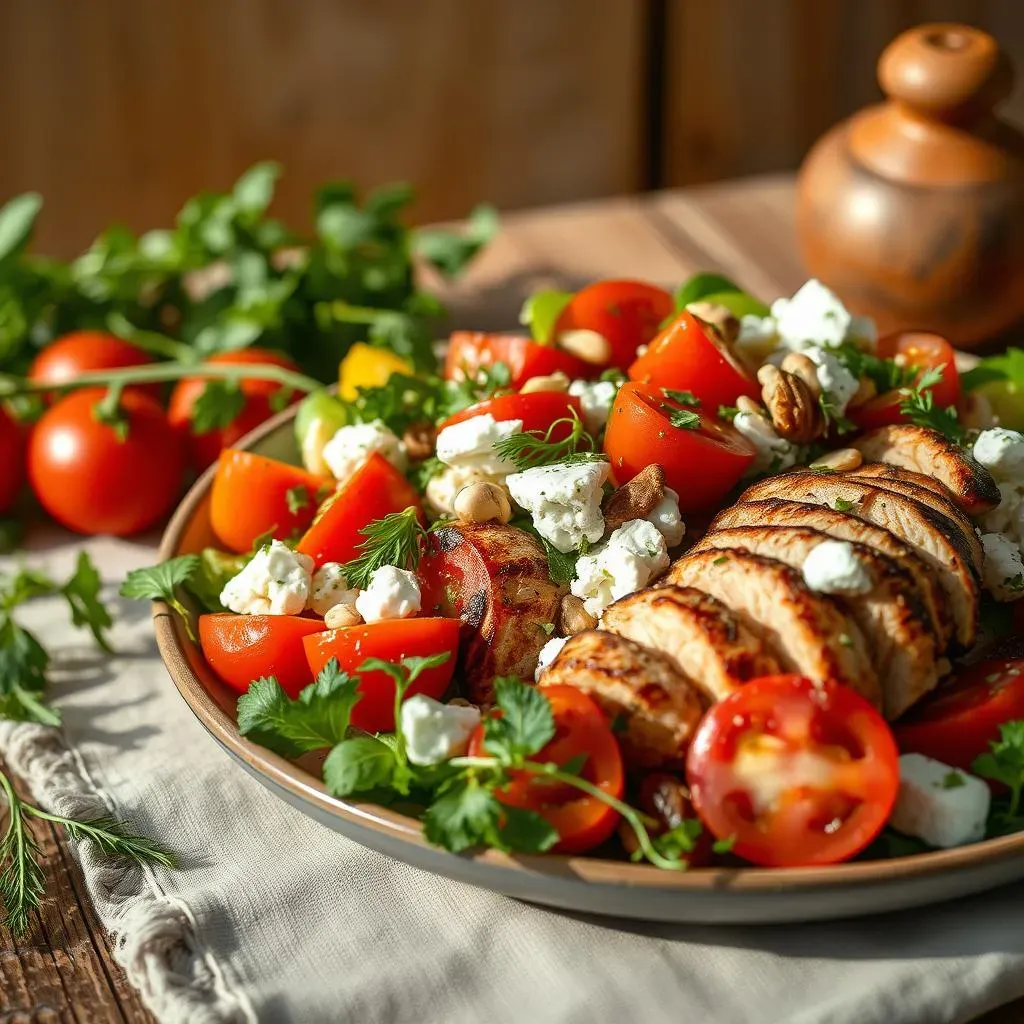
M 971 546 L 947 516 L 914 498 L 886 490 L 846 473 L 783 473 L 748 487 L 741 502 L 784 498 L 826 505 L 888 529 L 905 541 L 937 574 L 949 601 L 959 644 L 970 647 L 978 633 L 978 581 Z

